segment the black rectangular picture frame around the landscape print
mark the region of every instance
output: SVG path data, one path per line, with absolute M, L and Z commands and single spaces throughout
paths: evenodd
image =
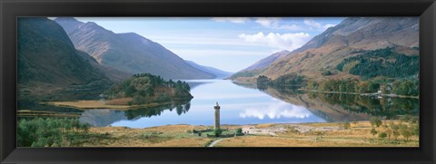
M 17 16 L 419 16 L 420 148 L 16 148 Z M 1 163 L 435 163 L 434 0 L 0 0 Z

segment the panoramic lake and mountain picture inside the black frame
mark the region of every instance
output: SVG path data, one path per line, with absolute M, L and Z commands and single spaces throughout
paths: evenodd
M 18 19 L 18 146 L 419 147 L 415 17 L 338 18 L 307 34 L 279 19 L 193 19 L 194 33 L 184 18 L 129 32 L 83 20 Z M 200 24 L 257 26 L 230 37 Z M 248 34 L 260 28 L 288 31 Z

